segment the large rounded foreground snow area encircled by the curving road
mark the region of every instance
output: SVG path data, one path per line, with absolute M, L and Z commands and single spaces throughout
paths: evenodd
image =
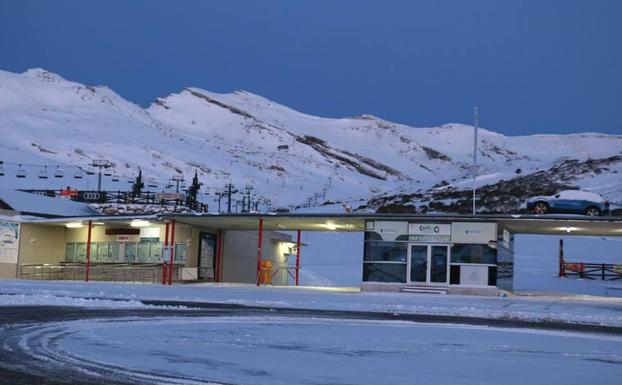
M 71 359 L 185 384 L 617 384 L 622 364 L 620 337 L 457 325 L 208 317 L 52 328 Z

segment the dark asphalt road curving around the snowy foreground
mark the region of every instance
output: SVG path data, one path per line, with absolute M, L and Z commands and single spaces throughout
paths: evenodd
M 219 317 L 219 316 L 286 316 L 339 318 L 354 320 L 411 321 L 488 325 L 507 328 L 563 330 L 622 335 L 622 328 L 602 325 L 534 322 L 512 319 L 438 316 L 398 313 L 352 312 L 265 308 L 232 304 L 143 301 L 153 308 L 94 309 L 60 306 L 0 307 L 0 385 L 137 385 L 137 384 L 207 384 L 183 377 L 149 379 L 149 373 L 90 363 L 59 355 L 56 340 L 63 337 L 52 325 L 72 320 L 102 320 L 154 317 Z M 175 309 L 171 306 L 193 308 Z M 58 329 L 58 328 L 56 328 Z

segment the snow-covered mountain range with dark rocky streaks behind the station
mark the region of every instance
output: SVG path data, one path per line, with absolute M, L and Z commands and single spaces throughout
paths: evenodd
M 471 126 L 415 128 L 369 115 L 321 118 L 245 91 L 187 88 L 144 109 L 107 87 L 42 69 L 0 71 L 0 130 L 0 183 L 11 188 L 93 188 L 94 176 L 73 176 L 100 158 L 114 163 L 120 179 L 104 178 L 108 189 L 127 189 L 138 167 L 158 186 L 152 190 L 196 171 L 207 187 L 203 193 L 232 181 L 253 185 L 274 206 L 366 204 L 372 197 L 374 209 L 409 199 L 429 206 L 434 192 L 471 187 Z M 534 176 L 535 185 L 576 186 L 622 201 L 622 135 L 510 137 L 481 129 L 480 139 L 477 183 L 491 193 Z M 559 173 L 543 176 L 555 167 Z M 16 178 L 20 169 L 27 177 Z M 45 171 L 48 179 L 38 178 Z M 54 178 L 56 171 L 63 178 Z

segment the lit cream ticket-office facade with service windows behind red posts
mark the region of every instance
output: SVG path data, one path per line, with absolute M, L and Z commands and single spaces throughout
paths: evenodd
M 158 220 L 94 220 L 89 240 L 88 221 L 33 222 L 3 217 L 0 278 L 81 280 L 90 245 L 91 279 L 157 282 L 163 262 L 169 263 L 172 253 L 176 280 L 257 281 L 257 232 L 216 231 L 177 223 L 173 237 L 172 225 L 168 231 L 166 227 Z M 270 261 L 271 282 L 289 284 L 291 237 L 266 231 L 261 249 L 262 260 Z

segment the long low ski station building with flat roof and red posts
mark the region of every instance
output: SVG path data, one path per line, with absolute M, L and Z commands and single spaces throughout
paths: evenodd
M 584 216 L 2 218 L 2 278 L 296 285 L 301 232 L 347 231 L 364 243 L 362 290 L 490 295 L 512 290 L 516 234 L 622 236 L 622 219 Z

